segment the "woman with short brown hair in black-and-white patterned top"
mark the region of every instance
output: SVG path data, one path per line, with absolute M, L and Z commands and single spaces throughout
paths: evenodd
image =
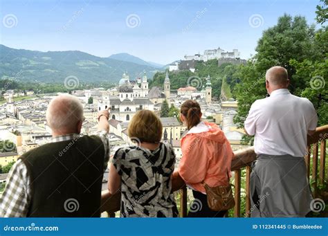
M 161 143 L 163 126 L 153 111 L 138 111 L 128 127 L 136 146 L 120 148 L 113 156 L 108 188 L 120 189 L 121 217 L 176 217 L 171 176 L 175 154 Z

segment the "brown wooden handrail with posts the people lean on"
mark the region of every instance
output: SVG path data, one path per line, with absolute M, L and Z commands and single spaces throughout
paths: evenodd
M 325 142 L 328 138 L 328 125 L 324 125 L 322 127 L 316 128 L 316 131 L 311 136 L 307 137 L 307 145 L 308 145 L 308 154 L 305 157 L 305 161 L 308 167 L 308 174 L 309 170 L 309 162 L 310 162 L 310 150 L 311 145 L 316 145 L 314 147 L 314 159 L 313 163 L 318 163 L 318 153 L 316 152 L 318 145 L 320 144 L 320 181 L 325 180 Z M 235 156 L 233 161 L 231 162 L 231 170 L 235 171 L 235 200 L 237 200 L 235 206 L 235 217 L 240 217 L 240 181 L 241 181 L 241 169 L 246 167 L 246 217 L 250 215 L 250 199 L 249 199 L 249 179 L 250 179 L 250 164 L 256 160 L 256 154 L 254 152 L 254 147 L 248 147 L 246 149 L 238 150 L 235 152 Z M 312 174 L 314 174 L 313 178 L 316 181 L 316 172 L 318 171 L 317 167 L 312 167 Z M 309 175 L 308 175 L 309 176 Z M 236 186 L 237 184 L 237 186 Z M 185 182 L 181 179 L 179 174 L 172 176 L 172 191 L 181 192 L 181 217 L 185 217 L 187 214 L 187 191 L 185 188 Z M 315 183 L 315 191 L 316 191 L 316 183 Z M 316 193 L 315 193 L 316 194 Z M 108 190 L 102 191 L 102 205 L 101 205 L 101 212 L 108 212 L 109 216 L 114 216 L 113 213 L 120 210 L 120 193 L 117 194 L 109 194 Z

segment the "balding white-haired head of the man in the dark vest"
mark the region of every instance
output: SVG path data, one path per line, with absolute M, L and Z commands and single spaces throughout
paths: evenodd
M 83 106 L 75 96 L 62 94 L 49 103 L 46 120 L 53 131 L 73 133 L 83 120 Z

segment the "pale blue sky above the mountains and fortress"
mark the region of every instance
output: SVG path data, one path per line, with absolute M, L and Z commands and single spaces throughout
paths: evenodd
M 161 64 L 217 47 L 238 48 L 248 58 L 262 31 L 275 25 L 284 12 L 303 15 L 312 24 L 318 3 L 1 0 L 0 43 L 38 51 L 79 50 L 100 57 L 129 53 Z M 14 26 L 8 15 L 14 15 Z

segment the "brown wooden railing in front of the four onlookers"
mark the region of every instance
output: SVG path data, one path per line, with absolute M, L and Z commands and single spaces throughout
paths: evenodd
M 318 183 L 323 184 L 328 182 L 325 172 L 325 157 L 326 157 L 326 140 L 328 138 L 328 125 L 318 127 L 316 132 L 308 136 L 307 141 L 307 154 L 304 156 L 305 163 L 307 165 L 307 177 L 309 178 L 311 172 L 311 187 L 313 188 L 313 197 L 317 197 L 320 192 L 318 191 Z M 318 161 L 318 150 L 320 147 L 320 161 Z M 311 157 L 311 150 L 313 150 L 313 155 Z M 231 170 L 235 172 L 235 208 L 234 217 L 250 217 L 250 165 L 256 160 L 256 154 L 253 147 L 248 147 L 247 149 L 242 149 L 235 152 L 235 157 L 231 163 Z M 310 165 L 312 161 L 312 166 Z M 319 164 L 319 165 L 318 165 Z M 310 170 L 310 167 L 312 169 Z M 246 176 L 243 181 L 245 183 L 246 190 L 246 203 L 245 203 L 245 215 L 241 215 L 241 187 L 242 187 L 242 170 L 246 169 Z M 318 178 L 319 176 L 319 178 Z M 319 179 L 319 182 L 318 182 Z M 187 188 L 183 179 L 178 176 L 173 176 L 172 178 L 172 190 L 174 192 L 180 192 L 180 216 L 187 216 Z M 102 192 L 102 207 L 101 212 L 107 212 L 109 217 L 115 217 L 115 212 L 120 210 L 120 192 L 116 194 L 109 194 L 108 191 Z

